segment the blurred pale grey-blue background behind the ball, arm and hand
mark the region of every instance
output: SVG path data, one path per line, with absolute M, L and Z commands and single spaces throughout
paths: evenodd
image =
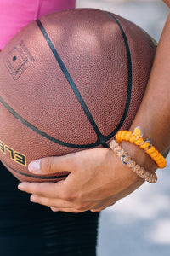
M 169 9 L 161 0 L 77 0 L 77 8 L 109 10 L 159 41 Z M 98 256 L 170 255 L 170 154 L 156 184 L 144 183 L 100 215 Z

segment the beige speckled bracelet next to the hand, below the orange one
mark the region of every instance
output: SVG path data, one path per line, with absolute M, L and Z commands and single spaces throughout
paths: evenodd
M 133 172 L 138 174 L 139 177 L 143 178 L 145 181 L 149 183 L 156 183 L 157 176 L 156 173 L 150 173 L 144 169 L 144 167 L 141 167 L 136 164 L 135 161 L 131 160 L 131 158 L 125 153 L 125 151 L 122 149 L 122 147 L 117 143 L 115 140 L 112 140 L 110 143 L 110 148 L 113 150 L 113 152 L 121 157 L 121 161 L 123 165 L 126 165 L 129 167 Z

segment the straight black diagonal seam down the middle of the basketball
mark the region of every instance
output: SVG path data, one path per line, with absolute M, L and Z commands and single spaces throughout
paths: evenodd
M 84 113 L 86 114 L 86 116 L 88 117 L 88 120 L 89 120 L 90 124 L 93 126 L 97 137 L 103 137 L 101 132 L 99 131 L 98 126 L 96 125 L 96 123 L 94 121 L 94 118 L 93 118 L 92 114 L 90 113 L 90 111 L 88 109 L 88 106 L 86 105 L 86 103 L 82 99 L 82 95 L 80 94 L 79 90 L 77 89 L 77 85 L 74 83 L 73 79 L 71 79 L 71 75 L 68 72 L 67 68 L 65 67 L 64 62 L 61 60 L 57 50 L 54 48 L 54 44 L 52 43 L 51 39 L 48 37 L 48 33 L 46 32 L 44 26 L 42 25 L 42 22 L 40 20 L 36 20 L 36 22 L 37 22 L 37 26 L 39 27 L 39 29 L 42 32 L 43 37 L 47 41 L 48 46 L 51 49 L 56 61 L 58 62 L 60 69 L 64 73 L 65 79 L 67 79 L 68 83 L 70 84 L 71 89 L 73 90 L 75 96 L 77 96 L 77 100 L 81 104 L 82 109 L 83 109 Z

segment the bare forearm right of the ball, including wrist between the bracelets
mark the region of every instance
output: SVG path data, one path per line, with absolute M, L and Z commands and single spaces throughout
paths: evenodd
M 139 111 L 130 128 L 141 126 L 144 138 L 150 138 L 157 150 L 164 154 L 170 147 L 170 15 L 161 34 L 150 80 Z M 135 145 L 122 143 L 131 156 L 146 168 L 156 168 L 153 160 Z

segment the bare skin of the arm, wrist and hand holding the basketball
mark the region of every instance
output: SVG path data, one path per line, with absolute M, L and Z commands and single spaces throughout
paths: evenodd
M 150 138 L 161 154 L 170 147 L 170 15 L 167 17 L 144 99 L 130 131 L 140 126 L 144 138 Z M 150 172 L 156 164 L 144 150 L 122 142 L 122 148 L 140 166 Z M 37 160 L 30 172 L 48 174 L 68 171 L 59 183 L 20 183 L 19 189 L 31 194 L 31 201 L 54 212 L 99 212 L 132 193 L 144 183 L 137 174 L 122 165 L 110 148 L 94 148 L 60 157 Z

